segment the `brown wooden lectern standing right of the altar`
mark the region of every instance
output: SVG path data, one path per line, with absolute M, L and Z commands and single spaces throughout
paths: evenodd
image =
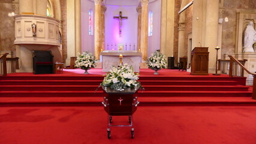
M 208 75 L 209 52 L 208 47 L 195 47 L 191 52 L 192 75 Z

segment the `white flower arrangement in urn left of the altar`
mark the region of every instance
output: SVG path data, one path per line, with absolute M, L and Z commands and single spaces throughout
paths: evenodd
M 85 70 L 84 74 L 89 74 L 87 70 L 96 67 L 96 58 L 91 52 L 83 52 L 82 54 L 78 53 L 78 56 L 75 61 L 75 67 Z

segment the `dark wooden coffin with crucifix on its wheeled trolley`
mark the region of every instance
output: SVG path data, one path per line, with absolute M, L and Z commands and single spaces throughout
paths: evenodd
M 116 91 L 111 88 L 103 88 L 103 101 L 105 111 L 108 113 L 108 139 L 111 138 L 111 127 L 131 127 L 131 138 L 134 137 L 133 113 L 139 104 L 136 88 L 126 88 Z M 129 125 L 112 125 L 112 116 L 129 116 Z

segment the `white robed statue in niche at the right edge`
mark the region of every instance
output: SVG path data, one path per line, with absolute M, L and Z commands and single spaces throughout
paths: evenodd
M 243 52 L 254 52 L 252 45 L 256 42 L 256 31 L 253 22 L 249 22 L 246 26 L 245 39 L 243 42 Z

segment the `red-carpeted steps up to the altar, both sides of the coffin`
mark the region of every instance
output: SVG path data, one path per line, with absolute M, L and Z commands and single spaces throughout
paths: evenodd
M 161 106 L 178 104 L 226 105 L 256 104 L 252 90 L 245 86 L 246 77 L 193 76 L 186 71 L 163 69 L 154 75 L 150 69 L 141 69 L 139 81 L 145 91 L 139 91 L 141 105 Z M 0 77 L 1 106 L 22 104 L 64 104 L 74 106 L 101 106 L 102 69 L 66 69 L 62 74 L 13 73 Z

